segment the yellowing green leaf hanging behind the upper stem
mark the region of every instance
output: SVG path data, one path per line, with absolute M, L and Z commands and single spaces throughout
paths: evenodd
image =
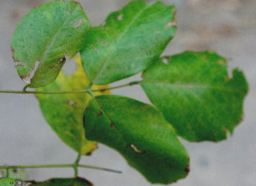
M 68 91 L 86 90 L 89 80 L 86 77 L 81 62 L 78 70 L 72 76 L 60 73 L 58 78 L 38 91 Z M 44 119 L 51 128 L 71 148 L 81 154 L 90 154 L 96 149 L 96 142 L 90 142 L 84 137 L 83 115 L 91 96 L 85 94 L 46 94 L 37 95 Z

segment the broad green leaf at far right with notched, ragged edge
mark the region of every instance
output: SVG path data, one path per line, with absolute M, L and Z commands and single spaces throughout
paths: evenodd
M 223 140 L 242 119 L 247 81 L 238 70 L 229 78 L 226 60 L 214 52 L 187 51 L 160 59 L 143 78 L 150 101 L 189 141 Z

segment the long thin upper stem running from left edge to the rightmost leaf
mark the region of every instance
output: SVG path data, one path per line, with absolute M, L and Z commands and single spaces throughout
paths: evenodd
M 91 90 L 92 92 L 95 91 L 105 91 L 105 90 L 114 90 L 114 89 L 119 89 L 125 86 L 132 86 L 135 84 L 139 84 L 140 81 L 134 81 L 129 84 L 123 84 L 115 87 L 111 87 L 108 89 L 102 89 L 102 90 Z M 88 93 L 90 90 L 71 90 L 71 91 L 28 91 L 28 90 L 0 90 L 0 93 L 9 93 L 9 94 L 84 94 Z

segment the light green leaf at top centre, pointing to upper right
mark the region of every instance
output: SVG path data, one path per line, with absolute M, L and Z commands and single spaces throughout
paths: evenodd
M 129 3 L 90 29 L 81 50 L 84 71 L 94 84 L 109 84 L 142 72 L 160 56 L 176 32 L 174 6 Z

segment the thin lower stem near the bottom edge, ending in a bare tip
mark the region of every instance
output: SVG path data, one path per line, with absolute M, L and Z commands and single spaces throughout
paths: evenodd
M 5 169 L 8 171 L 9 169 L 34 169 L 34 168 L 64 168 L 64 167 L 82 167 L 88 169 L 96 169 L 100 171 L 112 171 L 116 173 L 122 173 L 121 171 L 116 171 L 108 168 L 102 168 L 97 166 L 86 166 L 86 165 L 75 165 L 75 164 L 57 164 L 57 165 L 35 165 L 35 166 L 0 166 L 0 169 Z M 8 172 L 7 172 L 8 173 Z

